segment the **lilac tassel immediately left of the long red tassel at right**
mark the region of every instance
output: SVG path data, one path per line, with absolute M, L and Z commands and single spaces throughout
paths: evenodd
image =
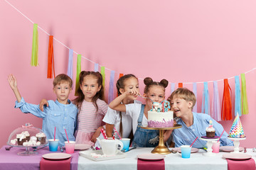
M 218 92 L 218 83 L 213 81 L 213 103 L 212 103 L 212 118 L 216 121 L 221 120 L 221 111 L 220 111 L 220 95 Z

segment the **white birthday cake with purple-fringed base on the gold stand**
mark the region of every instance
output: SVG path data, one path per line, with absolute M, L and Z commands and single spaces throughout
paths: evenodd
M 148 127 L 149 128 L 168 128 L 174 126 L 174 112 L 170 111 L 169 101 L 161 103 L 153 103 L 150 111 L 148 111 Z

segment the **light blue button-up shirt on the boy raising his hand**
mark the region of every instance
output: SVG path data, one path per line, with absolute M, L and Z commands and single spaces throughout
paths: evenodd
M 43 132 L 46 133 L 47 139 L 54 138 L 54 129 L 56 127 L 55 138 L 59 140 L 59 145 L 64 146 L 67 141 L 65 130 L 68 134 L 68 140 L 75 141 L 74 132 L 76 127 L 76 119 L 78 108 L 68 100 L 70 104 L 62 104 L 56 101 L 48 101 L 49 106 L 44 106 L 43 112 L 39 109 L 39 105 L 26 103 L 24 98 L 21 102 L 16 101 L 15 108 L 20 108 L 23 113 L 31 113 L 38 118 L 43 118 Z

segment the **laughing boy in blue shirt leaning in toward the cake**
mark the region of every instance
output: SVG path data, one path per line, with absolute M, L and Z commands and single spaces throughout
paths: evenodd
M 220 123 L 210 118 L 210 115 L 204 113 L 193 113 L 193 106 L 196 103 L 196 96 L 192 91 L 186 88 L 178 88 L 168 98 L 171 103 L 171 111 L 174 111 L 177 120 L 176 122 L 182 125 L 182 128 L 173 131 L 175 147 L 181 145 L 191 145 L 196 137 L 206 136 L 206 128 L 209 121 L 213 121 L 215 135 L 220 136 L 223 132 L 223 126 Z M 228 133 L 224 132 L 220 137 L 220 146 L 233 146 L 233 142 L 228 139 Z M 196 140 L 193 147 L 206 147 L 206 141 Z

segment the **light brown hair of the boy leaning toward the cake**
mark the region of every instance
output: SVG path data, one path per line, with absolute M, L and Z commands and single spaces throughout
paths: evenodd
M 193 106 L 196 104 L 196 96 L 193 94 L 193 91 L 190 91 L 186 88 L 178 88 L 176 91 L 172 92 L 171 96 L 167 98 L 167 101 L 171 102 L 171 100 L 174 98 L 174 96 L 177 96 L 178 98 L 182 98 L 185 101 L 192 101 Z M 193 109 L 193 106 L 191 109 Z

